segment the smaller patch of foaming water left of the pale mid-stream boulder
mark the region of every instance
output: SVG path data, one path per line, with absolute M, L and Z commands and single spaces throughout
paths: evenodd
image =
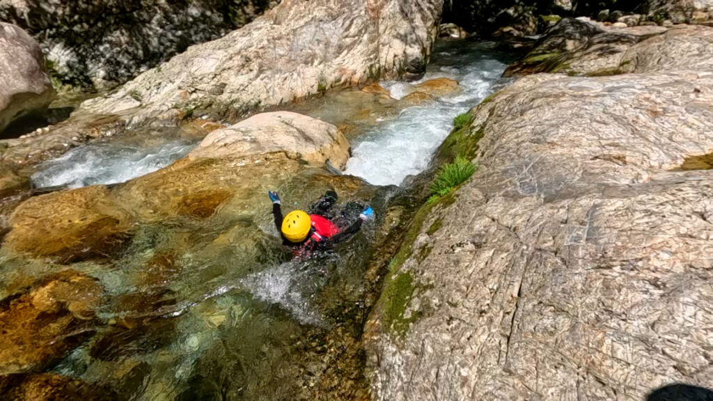
M 37 188 L 123 183 L 168 166 L 194 147 L 193 141 L 170 139 L 158 143 L 93 143 L 46 161 L 31 179 Z

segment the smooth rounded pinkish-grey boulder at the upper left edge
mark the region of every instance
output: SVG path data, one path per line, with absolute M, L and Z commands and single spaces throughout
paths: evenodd
M 0 22 L 0 133 L 16 118 L 47 108 L 53 97 L 37 42 Z

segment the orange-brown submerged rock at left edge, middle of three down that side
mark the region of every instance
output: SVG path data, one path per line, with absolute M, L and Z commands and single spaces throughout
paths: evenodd
M 51 365 L 93 334 L 101 286 L 65 271 L 0 303 L 0 375 Z

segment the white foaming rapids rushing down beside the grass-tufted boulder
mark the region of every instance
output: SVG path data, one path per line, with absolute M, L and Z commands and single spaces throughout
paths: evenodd
M 489 44 L 443 42 L 434 51 L 434 63 L 413 83 L 383 82 L 394 98 L 417 91 L 418 83 L 451 78 L 461 91 L 437 98 L 434 103 L 401 111 L 353 141 L 354 153 L 345 173 L 376 185 L 399 185 L 404 178 L 423 171 L 431 156 L 453 128 L 453 118 L 468 111 L 496 91 L 508 66 L 506 57 Z

